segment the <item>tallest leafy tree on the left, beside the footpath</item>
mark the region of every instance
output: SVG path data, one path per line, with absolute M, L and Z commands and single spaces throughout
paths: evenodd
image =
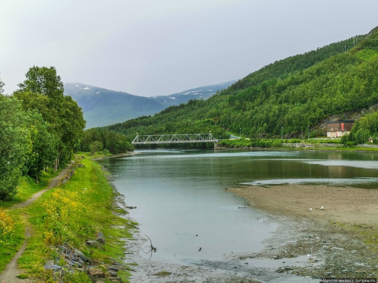
M 48 132 L 56 141 L 54 169 L 60 162 L 65 165 L 79 144 L 85 120 L 82 109 L 70 97 L 64 96 L 64 87 L 54 67 L 33 66 L 26 73 L 26 80 L 19 84 L 14 95 L 22 100 L 23 108 L 38 109 L 49 123 Z

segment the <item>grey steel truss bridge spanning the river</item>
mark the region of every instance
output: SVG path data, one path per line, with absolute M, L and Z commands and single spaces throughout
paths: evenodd
M 147 145 L 157 143 L 209 143 L 218 142 L 211 133 L 187 135 L 136 135 L 133 145 Z

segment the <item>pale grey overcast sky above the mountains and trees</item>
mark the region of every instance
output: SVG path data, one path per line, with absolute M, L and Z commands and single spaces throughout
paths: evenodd
M 168 95 L 365 34 L 376 0 L 0 0 L 0 78 L 29 67 L 64 83 Z

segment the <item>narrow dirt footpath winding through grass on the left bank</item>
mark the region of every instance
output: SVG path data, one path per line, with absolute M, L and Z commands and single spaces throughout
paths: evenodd
M 44 189 L 42 191 L 36 192 L 34 195 L 31 196 L 28 200 L 17 203 L 13 205 L 10 209 L 17 209 L 17 208 L 23 208 L 29 204 L 31 204 L 33 201 L 35 201 L 37 198 L 39 198 L 43 193 L 46 191 L 54 188 L 59 184 L 59 181 L 65 177 L 65 175 L 68 174 L 68 172 L 73 167 L 75 161 L 71 160 L 71 163 L 67 165 L 65 169 L 59 172 L 59 174 L 54 177 L 51 181 L 47 189 Z M 31 283 L 32 281 L 29 279 L 19 279 L 16 276 L 20 274 L 20 269 L 18 269 L 17 260 L 20 258 L 20 256 L 25 251 L 26 245 L 28 243 L 28 239 L 32 236 L 31 228 L 26 226 L 25 227 L 25 243 L 23 243 L 22 247 L 19 249 L 17 254 L 12 258 L 12 260 L 8 263 L 4 271 L 0 274 L 0 282 L 1 283 Z

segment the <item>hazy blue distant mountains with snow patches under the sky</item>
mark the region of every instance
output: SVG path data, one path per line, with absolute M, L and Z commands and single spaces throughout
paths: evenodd
M 70 95 L 83 109 L 87 128 L 111 125 L 144 115 L 153 115 L 172 105 L 190 99 L 206 99 L 228 88 L 236 80 L 217 85 L 201 86 L 171 95 L 143 97 L 112 91 L 82 83 L 65 83 L 64 94 Z

